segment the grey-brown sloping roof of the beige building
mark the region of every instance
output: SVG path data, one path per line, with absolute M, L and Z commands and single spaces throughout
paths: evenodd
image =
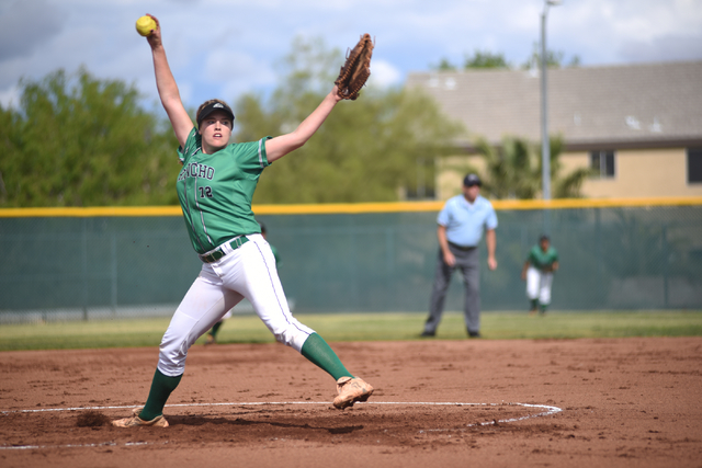
M 548 133 L 566 147 L 702 146 L 702 61 L 551 69 Z M 472 137 L 541 140 L 539 70 L 410 73 Z M 471 141 L 458 141 L 471 146 Z

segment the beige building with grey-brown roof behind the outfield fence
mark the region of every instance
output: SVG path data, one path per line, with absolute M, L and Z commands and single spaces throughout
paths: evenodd
M 552 69 L 548 130 L 561 135 L 564 173 L 590 167 L 599 175 L 587 197 L 702 196 L 702 61 Z M 463 156 L 438 162 L 437 198 L 460 190 L 462 174 L 446 168 L 480 165 L 475 138 L 541 141 L 539 70 L 422 72 L 408 77 L 463 122 Z M 467 156 L 466 156 L 467 155 Z

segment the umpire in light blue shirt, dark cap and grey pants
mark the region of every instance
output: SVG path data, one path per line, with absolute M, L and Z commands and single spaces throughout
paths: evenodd
M 437 218 L 440 249 L 429 318 L 421 336 L 437 334 L 451 276 L 456 267 L 461 270 L 465 285 L 466 331 L 471 338 L 480 336 L 480 263 L 477 247 L 484 229 L 487 265 L 490 270 L 497 269 L 497 260 L 495 260 L 497 215 L 492 204 L 480 196 L 480 179 L 477 175 L 467 174 L 463 180 L 463 194 L 449 198 Z

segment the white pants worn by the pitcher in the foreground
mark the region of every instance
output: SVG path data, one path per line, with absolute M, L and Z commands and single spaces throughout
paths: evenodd
M 165 375 L 183 374 L 190 346 L 245 297 L 275 339 L 297 352 L 314 333 L 292 316 L 265 239 L 247 238 L 229 254 L 203 264 L 161 340 L 158 369 Z

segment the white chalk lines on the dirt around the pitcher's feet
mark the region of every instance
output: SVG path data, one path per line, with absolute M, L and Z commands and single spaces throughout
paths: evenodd
M 254 401 L 254 402 L 238 402 L 238 403 L 177 403 L 177 404 L 167 404 L 166 408 L 195 408 L 195 407 L 262 407 L 262 406 L 283 406 L 283 404 L 329 404 L 328 401 Z M 433 407 L 505 407 L 505 406 L 516 406 L 516 407 L 524 407 L 524 408 L 540 408 L 545 411 L 526 414 L 520 418 L 510 418 L 506 420 L 492 420 L 482 423 L 473 423 L 466 424 L 466 427 L 475 427 L 478 425 L 490 425 L 495 423 L 510 423 L 517 421 L 523 421 L 532 418 L 542 418 L 552 414 L 559 413 L 563 409 L 558 407 L 552 407 L 548 404 L 531 404 L 531 403 L 464 403 L 464 402 L 438 402 L 438 401 L 366 401 L 355 403 L 359 406 L 365 404 L 395 404 L 395 406 L 433 406 Z M 42 412 L 53 412 L 53 411 L 89 411 L 89 410 L 124 410 L 124 409 L 133 409 L 140 408 L 139 404 L 136 406 L 118 406 L 118 407 L 75 407 L 75 408 L 42 408 L 34 410 L 8 410 L 2 411 L 0 414 L 10 414 L 10 413 L 42 413 Z M 419 431 L 420 434 L 424 432 L 444 432 L 444 431 L 456 431 L 455 429 L 445 430 L 445 429 L 430 429 Z M 114 442 L 105 442 L 100 444 L 69 444 L 69 445 L 0 445 L 0 450 L 26 450 L 26 449 L 39 449 L 39 448 L 90 448 L 90 447 L 106 447 L 106 446 L 118 446 Z M 125 447 L 134 447 L 141 445 L 151 445 L 148 442 L 127 442 L 122 444 Z

